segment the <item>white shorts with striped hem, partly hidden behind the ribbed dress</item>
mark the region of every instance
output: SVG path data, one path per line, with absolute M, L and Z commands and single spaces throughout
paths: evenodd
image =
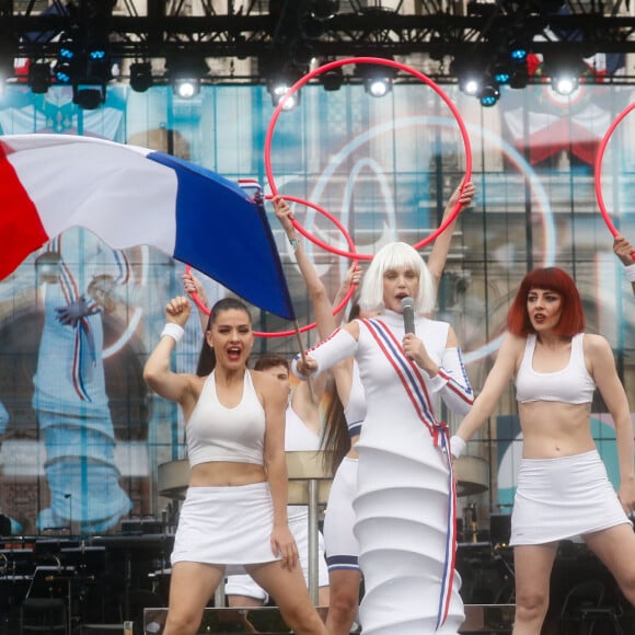
M 357 493 L 357 459 L 345 457 L 331 486 L 324 517 L 324 544 L 328 570 L 359 570 L 359 543 L 353 533 Z

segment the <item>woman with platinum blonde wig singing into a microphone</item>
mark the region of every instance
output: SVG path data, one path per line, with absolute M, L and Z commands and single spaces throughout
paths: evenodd
M 354 320 L 297 358 L 299 377 L 354 357 L 366 392 L 359 453 L 355 535 L 366 593 L 365 635 L 455 634 L 464 620 L 454 573 L 454 484 L 449 438 L 431 396 L 465 414 L 472 389 L 452 327 L 420 316 L 435 302 L 422 256 L 390 243 L 374 256 L 360 305 L 379 311 Z M 402 301 L 414 301 L 405 333 Z

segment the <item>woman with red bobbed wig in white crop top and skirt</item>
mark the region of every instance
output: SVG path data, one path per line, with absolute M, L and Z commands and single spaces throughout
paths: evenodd
M 574 280 L 557 267 L 520 285 L 500 346 L 472 412 L 451 439 L 459 457 L 516 379 L 522 462 L 511 517 L 516 565 L 515 635 L 539 635 L 549 609 L 558 541 L 581 535 L 635 603 L 633 425 L 609 343 L 585 334 Z M 591 436 L 594 388 L 615 425 L 620 487 L 608 478 Z

